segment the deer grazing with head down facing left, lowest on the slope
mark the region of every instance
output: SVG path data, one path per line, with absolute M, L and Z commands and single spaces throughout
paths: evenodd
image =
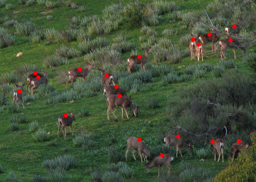
M 165 154 L 164 157 L 161 157 L 160 155 L 158 155 L 157 157 L 155 157 L 153 159 L 151 164 L 149 164 L 149 165 L 146 164 L 145 165 L 146 166 L 146 169 L 145 169 L 146 173 L 148 173 L 149 170 L 152 167 L 158 167 L 158 176 L 157 176 L 157 178 L 158 178 L 159 174 L 160 174 L 159 169 L 161 168 L 163 170 L 162 166 L 165 164 L 169 168 L 169 170 L 168 170 L 168 175 L 169 175 L 170 172 L 171 172 L 171 169 L 172 169 L 172 167 L 170 166 L 170 163 L 171 163 L 172 160 L 173 160 L 173 157 L 170 154 Z

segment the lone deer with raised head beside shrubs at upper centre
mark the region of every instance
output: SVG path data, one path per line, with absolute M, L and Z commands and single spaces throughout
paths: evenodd
M 142 55 L 142 57 L 139 59 L 137 55 L 132 55 L 127 59 L 129 66 L 128 66 L 128 72 L 131 73 L 131 68 L 134 66 L 134 64 L 141 64 L 141 69 L 145 70 L 145 63 L 148 60 L 148 52 L 151 49 L 151 46 L 148 49 L 142 48 L 142 50 L 145 51 L 145 55 Z

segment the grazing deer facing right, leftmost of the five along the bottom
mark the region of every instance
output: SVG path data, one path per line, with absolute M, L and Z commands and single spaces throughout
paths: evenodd
M 133 158 L 136 160 L 136 157 L 135 157 L 135 150 L 136 151 L 139 151 L 139 154 L 140 154 L 140 159 L 141 159 L 141 162 L 143 163 L 142 161 L 142 157 L 144 159 L 144 161 L 146 161 L 148 163 L 148 157 L 149 157 L 149 152 L 147 150 L 147 146 L 144 142 L 138 142 L 138 138 L 136 137 L 130 137 L 128 138 L 127 140 L 127 150 L 125 152 L 125 158 L 126 158 L 126 161 L 127 161 L 127 155 L 128 155 L 128 152 L 130 151 L 130 149 L 133 148 Z

